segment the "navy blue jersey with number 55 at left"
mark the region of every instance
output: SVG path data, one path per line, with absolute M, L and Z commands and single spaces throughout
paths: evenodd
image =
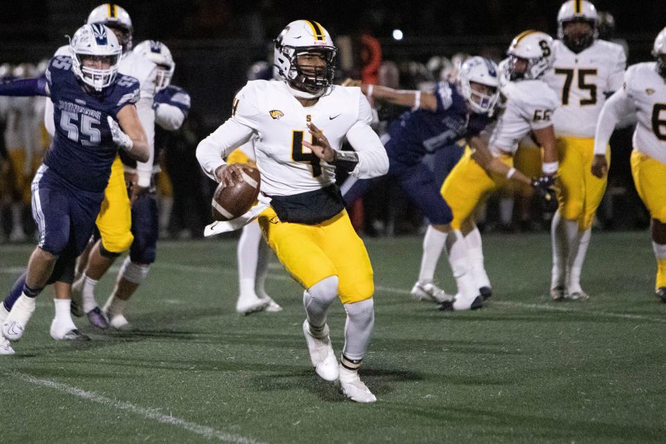
M 119 74 L 110 87 L 88 93 L 71 69 L 71 58 L 56 56 L 46 81 L 56 135 L 44 164 L 77 189 L 103 191 L 118 151 L 107 117 L 117 119 L 121 108 L 139 100 L 139 80 Z

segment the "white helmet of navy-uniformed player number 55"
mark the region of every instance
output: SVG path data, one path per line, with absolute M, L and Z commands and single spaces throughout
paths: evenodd
M 118 64 L 123 49 L 116 35 L 103 24 L 83 25 L 69 42 L 71 68 L 83 83 L 101 91 L 113 83 L 118 73 Z M 87 57 L 103 58 L 109 63 L 107 69 L 84 66 Z

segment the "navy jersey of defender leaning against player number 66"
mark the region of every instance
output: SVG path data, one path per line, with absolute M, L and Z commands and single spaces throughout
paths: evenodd
M 486 114 L 469 114 L 467 101 L 454 83 L 439 82 L 434 91 L 437 110 L 408 111 L 388 126 L 389 158 L 405 164 L 420 162 L 427 153 L 477 135 L 490 122 Z

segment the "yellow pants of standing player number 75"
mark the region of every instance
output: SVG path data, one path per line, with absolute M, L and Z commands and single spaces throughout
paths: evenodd
M 578 221 L 579 230 L 592 226 L 595 212 L 606 191 L 606 177 L 599 179 L 592 174 L 595 158 L 595 139 L 558 137 L 555 146 L 559 155 L 556 192 L 561 216 Z M 606 147 L 610 164 L 610 149 Z

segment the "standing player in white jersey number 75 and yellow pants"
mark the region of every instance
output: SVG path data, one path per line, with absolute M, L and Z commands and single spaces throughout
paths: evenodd
M 566 1 L 557 20 L 554 69 L 545 77 L 560 99 L 553 116 L 561 162 L 559 206 L 552 221 L 550 293 L 554 300 L 585 300 L 581 268 L 606 190 L 606 178 L 590 172 L 595 128 L 606 96 L 622 87 L 626 56 L 619 44 L 597 39 L 599 17 L 589 1 Z

